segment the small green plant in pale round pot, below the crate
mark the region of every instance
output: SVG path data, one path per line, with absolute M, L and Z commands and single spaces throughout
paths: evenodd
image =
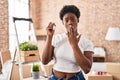
M 39 73 L 39 65 L 33 64 L 32 66 L 32 77 L 33 79 L 39 79 L 40 73 Z

